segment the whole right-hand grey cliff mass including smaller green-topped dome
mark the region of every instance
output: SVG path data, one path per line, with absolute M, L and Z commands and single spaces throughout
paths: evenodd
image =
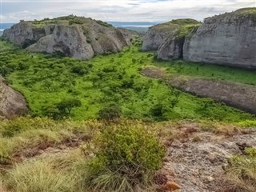
M 256 68 L 256 8 L 206 18 L 202 25 L 192 19 L 161 25 L 150 28 L 142 46 L 158 50 L 158 59 Z

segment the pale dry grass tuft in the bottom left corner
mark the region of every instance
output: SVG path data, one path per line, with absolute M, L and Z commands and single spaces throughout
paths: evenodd
M 72 176 L 54 170 L 47 162 L 24 162 L 6 174 L 5 183 L 13 192 L 72 192 L 76 191 Z

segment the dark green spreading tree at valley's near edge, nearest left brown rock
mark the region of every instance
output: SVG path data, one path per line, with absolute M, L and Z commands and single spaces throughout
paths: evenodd
M 74 107 L 79 107 L 82 106 L 82 102 L 76 98 L 69 98 L 69 99 L 64 99 L 62 102 L 59 102 L 56 105 L 56 108 L 59 110 L 60 114 L 62 115 L 69 115 L 71 110 Z

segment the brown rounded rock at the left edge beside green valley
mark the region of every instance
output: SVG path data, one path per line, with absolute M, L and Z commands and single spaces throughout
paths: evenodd
M 6 86 L 0 76 L 0 116 L 13 118 L 26 114 L 27 111 L 26 100 L 22 94 Z

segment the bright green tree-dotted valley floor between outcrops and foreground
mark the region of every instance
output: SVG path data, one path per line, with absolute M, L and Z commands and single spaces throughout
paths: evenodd
M 2 46 L 10 46 L 1 42 Z M 181 118 L 216 118 L 239 121 L 251 118 L 210 99 L 196 98 L 175 90 L 165 82 L 143 77 L 143 66 L 152 62 L 153 54 L 126 47 L 122 53 L 97 56 L 90 61 L 56 58 L 49 54 L 30 54 L 10 50 L 2 56 L 2 66 L 10 69 L 7 79 L 22 92 L 31 114 L 50 116 L 58 111 L 62 100 L 76 98 L 82 106 L 71 110 L 74 119 L 98 118 L 101 109 L 111 103 L 121 107 L 122 116 L 154 120 Z

